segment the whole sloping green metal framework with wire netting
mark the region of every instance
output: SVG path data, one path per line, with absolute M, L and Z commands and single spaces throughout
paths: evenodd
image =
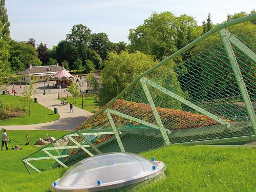
M 108 152 L 256 140 L 255 19 L 218 25 L 139 75 L 74 133 L 26 157 L 28 172 Z

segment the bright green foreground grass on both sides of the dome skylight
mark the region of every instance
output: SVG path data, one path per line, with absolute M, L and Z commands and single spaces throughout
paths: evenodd
M 26 143 L 25 134 L 38 137 L 64 135 L 58 131 L 9 131 L 12 144 Z M 11 144 L 11 145 L 12 145 Z M 67 169 L 57 168 L 29 175 L 22 159 L 38 148 L 24 146 L 21 151 L 0 152 L 1 191 L 49 191 L 50 184 Z M 256 148 L 216 146 L 165 146 L 141 154 L 163 161 L 166 178 L 145 184 L 137 191 L 256 191 Z

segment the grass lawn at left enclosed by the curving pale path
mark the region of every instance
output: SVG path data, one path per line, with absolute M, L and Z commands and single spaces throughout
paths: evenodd
M 11 96 L 11 95 L 0 95 L 0 99 L 3 99 L 4 102 L 10 103 L 14 106 L 22 105 L 20 102 L 20 97 Z M 0 120 L 0 125 L 25 125 L 25 124 L 36 124 L 36 123 L 45 123 L 57 120 L 59 118 L 58 114 L 50 109 L 47 109 L 45 106 L 42 106 L 38 103 L 31 103 L 31 112 L 27 111 L 24 115 L 19 117 L 13 117 L 5 120 Z

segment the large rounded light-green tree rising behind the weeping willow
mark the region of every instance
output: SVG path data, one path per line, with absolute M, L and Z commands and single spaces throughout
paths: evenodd
M 128 37 L 131 41 L 131 46 L 129 48 L 133 52 L 138 50 L 155 55 L 157 59 L 162 60 L 178 50 L 177 44 L 180 44 L 178 42 L 180 31 L 187 32 L 188 28 L 193 31 L 196 27 L 196 20 L 191 16 L 180 15 L 176 17 L 171 12 L 160 14 L 154 12 L 144 20 L 143 25 L 138 26 L 136 29 L 130 29 Z

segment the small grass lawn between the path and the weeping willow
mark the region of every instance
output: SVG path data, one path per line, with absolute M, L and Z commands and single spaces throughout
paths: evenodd
M 63 101 L 64 98 L 60 98 L 59 100 Z M 82 109 L 82 98 L 76 98 L 75 103 L 73 98 L 67 98 L 66 100 L 67 102 L 72 102 L 75 106 Z M 96 98 L 83 98 L 83 109 L 86 111 L 95 113 L 95 110 L 98 109 L 98 106 L 96 106 L 96 104 Z

